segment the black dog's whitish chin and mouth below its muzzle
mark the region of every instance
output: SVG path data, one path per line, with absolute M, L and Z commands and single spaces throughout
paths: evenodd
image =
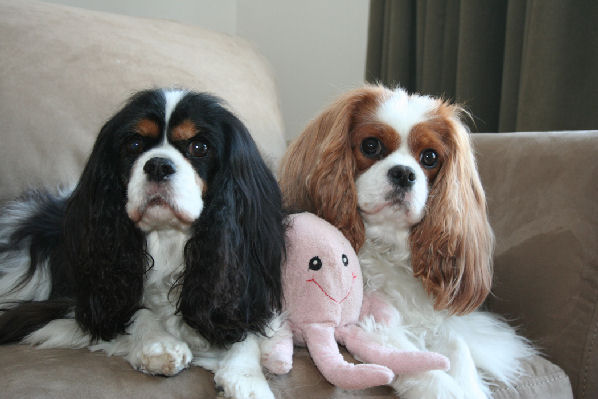
M 155 230 L 188 230 L 195 217 L 162 197 L 154 197 L 139 206 L 128 207 L 129 218 L 144 232 Z

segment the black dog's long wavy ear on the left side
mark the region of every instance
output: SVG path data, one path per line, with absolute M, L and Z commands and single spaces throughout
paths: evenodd
M 123 110 L 100 131 L 64 223 L 75 318 L 94 340 L 124 332 L 139 307 L 149 263 L 145 239 L 125 211 L 126 178 L 116 137 L 125 120 Z

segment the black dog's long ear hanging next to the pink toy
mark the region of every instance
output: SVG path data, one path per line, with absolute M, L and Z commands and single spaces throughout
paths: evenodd
M 212 344 L 263 333 L 281 308 L 281 194 L 245 126 L 226 112 L 205 208 L 185 248 L 178 310 Z

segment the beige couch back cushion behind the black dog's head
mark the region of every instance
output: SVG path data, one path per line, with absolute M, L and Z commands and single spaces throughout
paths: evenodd
M 271 164 L 285 149 L 276 88 L 246 42 L 178 23 L 0 0 L 0 200 L 76 180 L 106 121 L 135 91 L 209 91 Z

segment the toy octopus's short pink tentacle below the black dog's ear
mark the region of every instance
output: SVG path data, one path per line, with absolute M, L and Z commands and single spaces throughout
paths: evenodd
M 271 373 L 286 374 L 293 367 L 293 332 L 287 321 L 271 329 L 273 335 L 262 338 L 260 345 L 262 366 Z

